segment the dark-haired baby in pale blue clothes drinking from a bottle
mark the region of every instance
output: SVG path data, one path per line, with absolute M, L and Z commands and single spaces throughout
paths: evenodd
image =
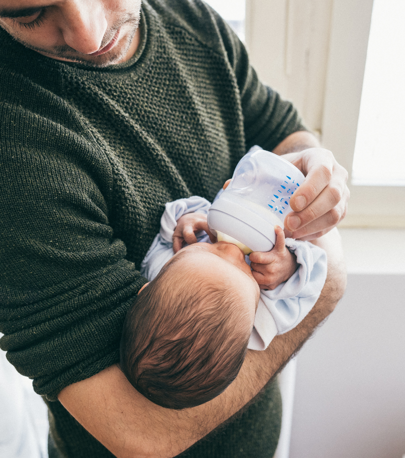
M 220 394 L 247 348 L 264 350 L 276 334 L 298 324 L 326 278 L 324 251 L 285 239 L 276 227 L 275 246 L 266 253 L 273 281 L 260 289 L 263 264 L 250 267 L 237 246 L 211 243 L 209 206 L 196 196 L 166 204 L 141 264 L 151 281 L 123 326 L 123 372 L 140 393 L 167 408 L 193 407 Z

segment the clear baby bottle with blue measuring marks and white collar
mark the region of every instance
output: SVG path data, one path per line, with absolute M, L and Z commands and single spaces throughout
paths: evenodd
M 284 228 L 289 200 L 304 176 L 291 163 L 253 149 L 238 162 L 232 180 L 208 211 L 208 227 L 218 241 L 231 242 L 244 254 L 270 251 L 274 226 Z

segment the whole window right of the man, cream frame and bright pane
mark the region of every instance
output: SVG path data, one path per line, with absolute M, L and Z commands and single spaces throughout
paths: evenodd
M 373 38 L 373 30 L 378 29 L 379 20 L 373 19 L 370 36 L 373 3 L 374 14 L 383 10 L 384 16 L 389 15 L 390 10 L 394 11 L 395 20 L 389 20 L 389 27 L 395 29 L 385 34 L 384 45 L 380 39 Z M 385 42 L 390 40 L 389 37 L 398 42 L 399 37 L 404 36 L 404 9 L 403 0 L 246 0 L 246 46 L 260 79 L 294 103 L 305 124 L 318 133 L 324 147 L 330 149 L 349 172 L 351 196 L 348 214 L 343 221 L 345 226 L 405 228 L 405 186 L 401 181 L 404 177 L 394 178 L 393 174 L 389 174 L 393 169 L 395 173 L 399 170 L 403 172 L 404 147 L 388 147 L 385 146 L 387 141 L 381 140 L 385 151 L 399 152 L 396 158 L 385 160 L 386 152 L 380 153 L 382 147 L 377 147 L 374 142 L 378 161 L 388 165 L 388 174 L 382 179 L 379 163 L 378 173 L 371 180 L 364 178 L 367 164 L 376 161 L 372 159 L 369 147 L 362 146 L 362 143 L 364 139 L 368 141 L 377 129 L 373 127 L 371 134 L 366 133 L 362 125 L 371 123 L 363 121 L 365 118 L 360 113 L 360 101 L 363 115 L 371 113 L 366 105 L 366 94 L 372 93 L 369 83 L 377 74 L 371 70 L 367 76 L 366 69 L 364 76 L 364 69 L 370 68 L 373 60 L 372 43 L 377 41 L 384 48 L 384 58 L 393 52 L 387 50 L 389 45 Z M 382 22 L 383 16 L 380 18 Z M 397 77 L 399 84 L 391 96 L 394 99 L 402 97 L 405 90 L 405 64 L 403 61 L 398 64 L 399 54 L 404 56 L 405 43 L 399 47 L 401 49 L 396 52 L 395 59 L 388 59 L 393 64 L 390 73 L 395 74 L 392 76 Z M 367 48 L 369 57 L 366 65 Z M 384 65 L 381 64 L 382 67 Z M 393 87 L 393 84 L 386 81 L 384 89 Z M 388 109 L 384 109 L 379 101 L 377 108 L 382 114 L 393 111 L 393 106 L 390 101 Z M 405 113 L 405 102 L 397 106 Z M 377 115 L 374 118 L 378 121 Z M 398 124 L 393 130 L 401 135 L 405 131 L 404 115 L 399 111 L 395 118 Z M 391 133 L 390 141 L 393 137 Z M 354 148 L 356 158 L 353 163 Z M 361 149 L 365 152 L 363 160 L 357 156 L 357 151 Z

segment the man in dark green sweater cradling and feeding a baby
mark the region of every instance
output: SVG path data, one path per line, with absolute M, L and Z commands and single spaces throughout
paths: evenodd
M 344 290 L 346 172 L 197 0 L 0 0 L 0 26 L 1 347 L 46 396 L 59 453 L 272 456 L 272 377 Z M 164 203 L 212 200 L 253 144 L 306 176 L 286 233 L 326 249 L 325 287 L 220 396 L 160 408 L 116 365 L 137 269 Z

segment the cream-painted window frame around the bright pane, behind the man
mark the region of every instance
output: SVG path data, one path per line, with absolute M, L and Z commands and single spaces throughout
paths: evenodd
M 350 201 L 341 226 L 405 228 L 405 187 L 351 184 L 372 4 L 246 0 L 246 46 L 261 80 L 294 102 L 348 171 Z

